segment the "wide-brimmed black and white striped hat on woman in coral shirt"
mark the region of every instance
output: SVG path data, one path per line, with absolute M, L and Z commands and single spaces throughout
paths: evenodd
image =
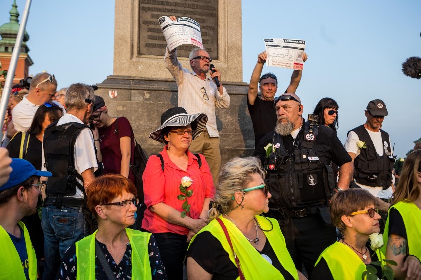
M 151 132 L 149 138 L 160 143 L 165 143 L 163 129 L 167 126 L 192 126 L 194 133 L 192 140 L 199 136 L 205 128 L 208 117 L 206 114 L 187 114 L 187 111 L 182 107 L 174 107 L 165 111 L 161 116 L 161 126 Z

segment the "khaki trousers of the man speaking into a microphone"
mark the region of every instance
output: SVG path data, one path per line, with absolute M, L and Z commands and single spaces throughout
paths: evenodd
M 219 137 L 209 137 L 209 133 L 206 129 L 192 141 L 190 145 L 190 152 L 195 154 L 202 154 L 205 156 L 206 162 L 211 170 L 213 183 L 215 186 L 218 183 L 218 175 L 221 169 L 221 151 L 219 150 L 219 144 L 221 140 Z

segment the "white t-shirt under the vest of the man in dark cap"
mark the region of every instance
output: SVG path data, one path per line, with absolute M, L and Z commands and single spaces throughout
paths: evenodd
M 383 140 L 381 138 L 381 132 L 380 131 L 374 132 L 374 131 L 368 130 L 367 128 L 366 128 L 366 131 L 368 132 L 371 140 L 373 141 L 373 145 L 376 150 L 376 153 L 379 156 L 382 156 L 384 153 L 384 149 L 383 149 Z M 355 157 L 359 156 L 361 153 L 360 148 L 358 148 L 357 146 L 357 142 L 359 140 L 360 139 L 358 135 L 354 131 L 350 131 L 346 139 L 346 143 L 344 145 L 345 150 L 347 152 L 356 154 Z M 390 139 L 389 139 L 389 143 L 390 143 Z M 389 147 L 389 149 L 391 150 L 392 148 Z M 392 154 L 393 154 L 393 151 L 392 151 Z M 357 182 L 356 184 L 360 186 L 362 189 L 368 190 L 375 197 L 392 198 L 393 196 L 392 187 L 389 187 L 387 190 L 383 190 L 383 187 L 370 187 L 370 186 L 362 185 Z

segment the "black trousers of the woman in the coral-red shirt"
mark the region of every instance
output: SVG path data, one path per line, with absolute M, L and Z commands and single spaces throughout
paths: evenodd
M 176 233 L 154 233 L 155 240 L 167 273 L 168 280 L 182 280 L 184 258 L 189 245 L 186 235 Z

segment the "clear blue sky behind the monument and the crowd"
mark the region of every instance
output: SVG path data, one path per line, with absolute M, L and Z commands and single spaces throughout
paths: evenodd
M 0 0 L 0 24 L 12 0 Z M 23 13 L 25 0 L 17 0 Z M 265 38 L 306 40 L 309 56 L 297 94 L 304 115 L 322 97 L 339 104 L 339 139 L 365 122 L 367 103 L 381 98 L 383 129 L 404 157 L 421 137 L 421 80 L 406 77 L 402 62 L 421 57 L 421 1 L 242 1 L 243 81 L 249 82 Z M 31 74 L 54 73 L 59 88 L 100 83 L 113 72 L 113 0 L 33 1 L 27 32 Z M 286 89 L 291 70 L 265 67 Z M 223 73 L 222 73 L 223 75 Z M 223 76 L 222 76 L 223 78 Z

